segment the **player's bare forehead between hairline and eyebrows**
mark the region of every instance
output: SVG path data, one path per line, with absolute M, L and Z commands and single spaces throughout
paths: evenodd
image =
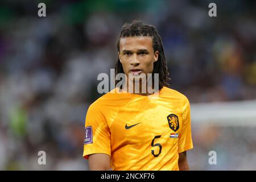
M 119 43 L 120 51 L 136 49 L 153 49 L 152 37 L 150 36 L 130 36 L 121 38 Z

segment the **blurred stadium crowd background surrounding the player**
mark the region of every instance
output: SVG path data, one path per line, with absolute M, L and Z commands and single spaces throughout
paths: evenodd
M 113 68 L 122 24 L 141 19 L 162 36 L 171 88 L 191 101 L 191 169 L 255 170 L 255 17 L 255 1 L 2 0 L 0 169 L 88 169 L 83 129 L 97 75 Z

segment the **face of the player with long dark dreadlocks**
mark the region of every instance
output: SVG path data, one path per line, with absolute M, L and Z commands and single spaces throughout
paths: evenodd
M 154 62 L 158 60 L 159 52 L 152 46 L 150 36 L 132 36 L 121 38 L 119 43 L 119 60 L 123 71 L 128 77 L 129 73 L 136 77 L 141 73 L 152 73 Z M 131 79 L 133 79 L 133 77 Z

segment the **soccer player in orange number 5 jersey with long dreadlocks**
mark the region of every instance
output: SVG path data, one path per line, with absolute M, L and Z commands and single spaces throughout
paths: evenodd
M 186 151 L 193 148 L 189 101 L 167 87 L 156 28 L 138 20 L 124 24 L 117 49 L 115 75 L 124 73 L 125 84 L 98 98 L 86 114 L 83 156 L 90 170 L 188 170 Z M 158 97 L 127 91 L 142 73 L 159 74 Z

